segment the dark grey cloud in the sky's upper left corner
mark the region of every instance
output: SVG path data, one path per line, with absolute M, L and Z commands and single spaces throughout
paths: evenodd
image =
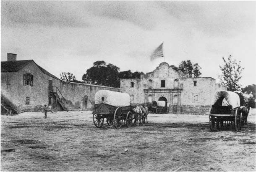
M 69 13 L 68 2 L 2 1 L 2 26 L 38 24 L 59 27 L 88 27 L 82 16 Z

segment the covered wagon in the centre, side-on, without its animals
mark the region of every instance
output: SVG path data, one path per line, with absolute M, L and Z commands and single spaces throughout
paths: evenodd
M 115 128 L 120 128 L 123 122 L 130 127 L 134 119 L 129 94 L 109 90 L 97 91 L 92 113 L 97 128 L 102 127 L 104 119 Z

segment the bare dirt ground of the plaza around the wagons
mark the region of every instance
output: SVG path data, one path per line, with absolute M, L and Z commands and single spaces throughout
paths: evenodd
M 98 129 L 91 111 L 1 115 L 1 171 L 255 171 L 255 115 L 211 132 L 208 115 L 149 114 Z M 104 121 L 104 124 L 106 122 Z

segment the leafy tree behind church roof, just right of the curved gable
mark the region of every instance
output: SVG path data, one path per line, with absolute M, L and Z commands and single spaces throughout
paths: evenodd
M 184 75 L 185 77 L 192 78 L 192 74 L 194 74 L 195 78 L 200 77 L 202 74 L 200 72 L 201 67 L 198 63 L 193 64 L 190 60 L 187 61 L 181 61 L 178 71 L 181 75 Z

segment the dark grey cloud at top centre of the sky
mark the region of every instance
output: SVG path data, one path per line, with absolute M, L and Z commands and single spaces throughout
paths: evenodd
M 144 30 L 152 30 L 158 24 L 159 15 L 153 2 L 98 1 L 86 3 L 94 15 L 114 20 L 125 20 Z

